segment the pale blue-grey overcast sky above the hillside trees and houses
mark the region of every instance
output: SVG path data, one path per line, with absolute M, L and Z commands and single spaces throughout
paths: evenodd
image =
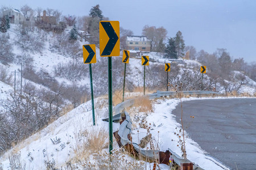
M 141 35 L 144 25 L 167 29 L 168 37 L 181 31 L 185 45 L 213 53 L 225 48 L 233 58 L 256 62 L 256 1 L 254 0 L 0 0 L 1 5 L 20 8 L 53 8 L 64 15 L 88 15 L 97 4 L 103 15 Z

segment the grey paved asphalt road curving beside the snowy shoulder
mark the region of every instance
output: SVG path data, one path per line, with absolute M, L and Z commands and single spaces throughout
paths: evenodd
M 255 98 L 192 100 L 182 104 L 185 130 L 203 150 L 231 169 L 256 169 Z M 180 122 L 180 105 L 172 113 Z

